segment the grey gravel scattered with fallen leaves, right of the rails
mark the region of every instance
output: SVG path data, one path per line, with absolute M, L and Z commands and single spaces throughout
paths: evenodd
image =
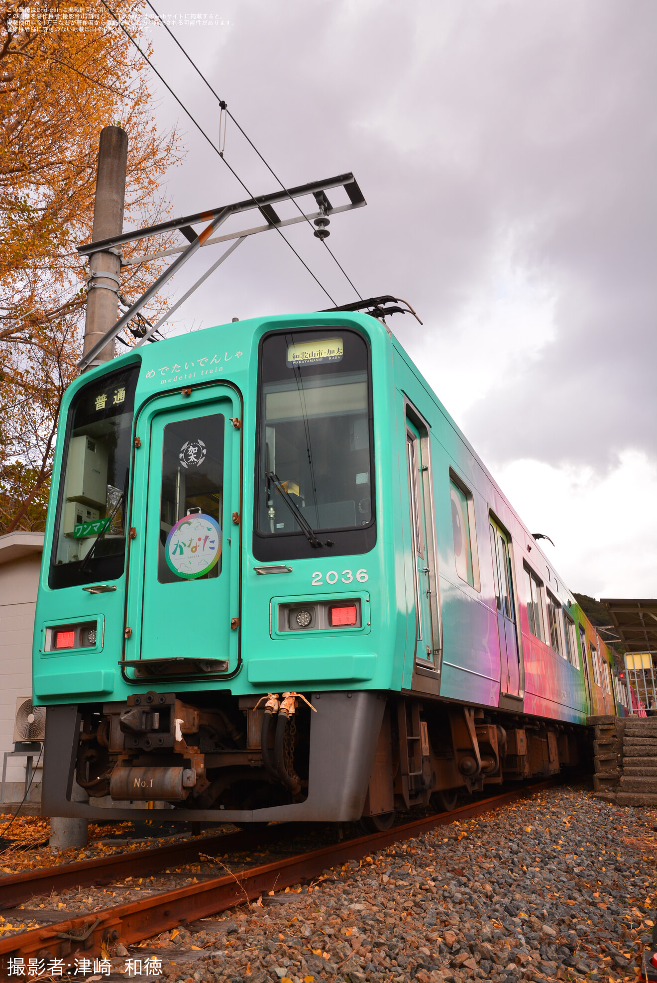
M 655 810 L 583 788 L 542 791 L 140 954 L 171 983 L 635 980 L 657 906 L 656 824 Z

